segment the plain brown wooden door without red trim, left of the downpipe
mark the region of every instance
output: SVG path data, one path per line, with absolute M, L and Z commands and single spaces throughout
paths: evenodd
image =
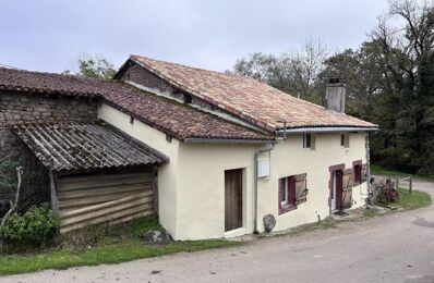
M 225 231 L 242 226 L 242 169 L 225 171 Z

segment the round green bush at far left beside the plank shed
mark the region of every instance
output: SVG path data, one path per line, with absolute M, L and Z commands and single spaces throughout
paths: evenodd
M 58 225 L 57 214 L 44 204 L 23 216 L 12 213 L 0 232 L 11 248 L 43 247 L 52 242 Z

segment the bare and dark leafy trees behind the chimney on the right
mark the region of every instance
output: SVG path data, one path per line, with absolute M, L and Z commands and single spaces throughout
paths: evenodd
M 395 21 L 398 20 L 398 21 Z M 347 113 L 371 121 L 372 160 L 413 174 L 434 175 L 434 2 L 390 0 L 387 14 L 360 48 L 327 58 L 324 47 L 241 59 L 234 73 L 321 102 L 326 77 L 347 84 Z

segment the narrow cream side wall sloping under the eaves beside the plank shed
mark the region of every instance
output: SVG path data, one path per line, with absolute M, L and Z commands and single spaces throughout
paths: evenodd
M 180 142 L 166 140 L 166 134 L 142 123 L 138 120 L 130 123 L 130 115 L 113 107 L 103 103 L 98 110 L 98 118 L 122 130 L 132 137 L 159 150 L 170 160 L 158 169 L 158 206 L 161 225 L 174 237 L 177 224 L 177 179 L 178 179 L 178 148 Z

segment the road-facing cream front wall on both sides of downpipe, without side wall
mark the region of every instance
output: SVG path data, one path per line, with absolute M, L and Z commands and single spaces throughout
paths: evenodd
M 340 146 L 340 134 L 317 134 L 316 149 L 302 147 L 302 135 L 279 140 L 270 157 L 270 176 L 258 181 L 258 230 L 263 217 L 276 217 L 276 230 L 315 222 L 329 214 L 329 167 L 365 163 L 365 134 L 350 134 L 350 148 Z M 180 144 L 178 174 L 177 237 L 197 239 L 249 234 L 253 232 L 253 155 L 265 145 Z M 270 156 L 269 156 L 270 155 Z M 225 233 L 225 170 L 243 168 L 243 229 Z M 278 216 L 278 179 L 308 173 L 308 201 Z M 362 206 L 366 183 L 353 187 L 353 208 Z

